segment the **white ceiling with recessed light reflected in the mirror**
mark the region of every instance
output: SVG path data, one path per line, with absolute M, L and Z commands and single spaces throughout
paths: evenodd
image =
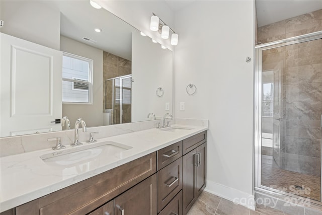
M 60 10 L 61 35 L 131 60 L 132 32 L 137 30 L 120 18 L 104 9 L 93 8 L 90 1 L 42 3 Z M 102 32 L 95 32 L 95 28 L 102 29 Z M 90 43 L 83 40 L 83 37 L 97 42 Z

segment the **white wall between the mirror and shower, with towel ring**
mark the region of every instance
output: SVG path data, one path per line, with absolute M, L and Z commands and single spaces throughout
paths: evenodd
M 175 116 L 209 119 L 206 189 L 253 207 L 241 198 L 253 198 L 254 2 L 196 1 L 175 27 Z

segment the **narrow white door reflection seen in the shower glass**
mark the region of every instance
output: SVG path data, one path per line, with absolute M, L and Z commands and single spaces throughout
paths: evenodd
M 281 68 L 274 68 L 274 96 L 273 96 L 273 157 L 280 165 L 281 148 Z

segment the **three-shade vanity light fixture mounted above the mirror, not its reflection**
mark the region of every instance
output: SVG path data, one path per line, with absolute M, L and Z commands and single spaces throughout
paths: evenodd
M 171 35 L 171 45 L 178 45 L 179 35 L 154 13 L 152 15 L 150 20 L 151 31 L 158 31 L 161 34 L 161 38 L 168 39 L 171 30 L 173 32 Z

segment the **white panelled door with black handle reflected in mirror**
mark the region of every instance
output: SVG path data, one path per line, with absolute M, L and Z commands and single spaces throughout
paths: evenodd
M 1 136 L 60 130 L 62 52 L 0 33 Z

